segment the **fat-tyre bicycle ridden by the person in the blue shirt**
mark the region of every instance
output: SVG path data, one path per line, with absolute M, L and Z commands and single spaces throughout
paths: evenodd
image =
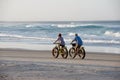
M 69 56 L 74 59 L 78 55 L 81 59 L 84 59 L 86 56 L 84 47 L 80 46 L 76 49 L 76 43 L 71 43 L 71 45 L 72 47 L 69 49 Z

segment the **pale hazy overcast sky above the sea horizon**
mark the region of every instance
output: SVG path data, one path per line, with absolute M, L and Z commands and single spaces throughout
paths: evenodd
M 120 20 L 120 0 L 0 0 L 0 21 Z

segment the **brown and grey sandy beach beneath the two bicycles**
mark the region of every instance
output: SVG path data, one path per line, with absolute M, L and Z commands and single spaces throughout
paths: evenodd
M 51 51 L 0 49 L 0 80 L 120 80 L 120 54 L 55 59 Z

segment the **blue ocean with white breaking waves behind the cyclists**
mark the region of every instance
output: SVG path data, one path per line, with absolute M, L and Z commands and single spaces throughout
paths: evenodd
M 120 21 L 0 22 L 0 44 L 6 44 L 0 47 L 5 48 L 7 44 L 9 48 L 12 44 L 53 45 L 59 33 L 66 46 L 70 46 L 74 34 L 78 33 L 84 47 L 107 48 L 108 52 L 114 48 L 113 52 L 120 53 Z

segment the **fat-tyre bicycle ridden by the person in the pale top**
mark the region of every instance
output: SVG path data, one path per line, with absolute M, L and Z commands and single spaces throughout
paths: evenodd
M 66 59 L 68 57 L 67 47 L 60 46 L 60 43 L 54 43 L 54 44 L 57 44 L 57 45 L 52 49 L 53 57 L 58 58 L 59 54 L 61 54 L 62 58 Z

